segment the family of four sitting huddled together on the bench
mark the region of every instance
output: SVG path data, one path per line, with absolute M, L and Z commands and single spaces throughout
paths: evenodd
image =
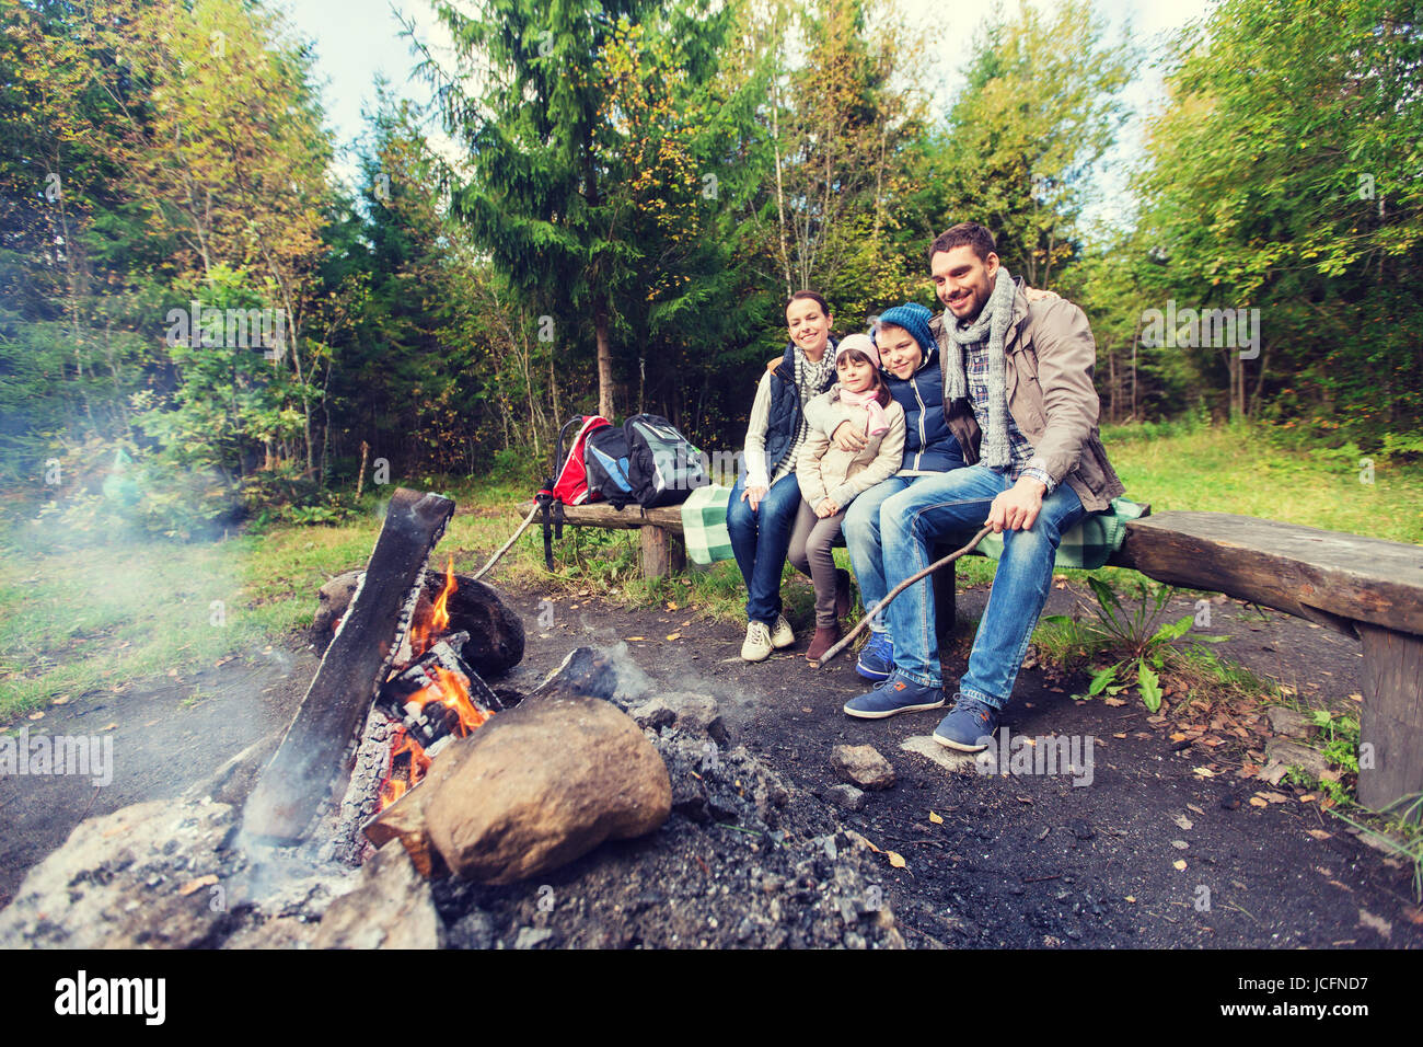
M 929 566 L 936 540 L 985 523 L 1000 533 L 968 672 L 933 732 L 978 752 L 1012 697 L 1062 536 L 1124 489 L 1097 433 L 1096 345 L 1081 309 L 1013 279 L 973 222 L 935 238 L 929 271 L 941 316 L 905 303 L 869 336 L 838 343 L 825 299 L 791 296 L 790 345 L 757 387 L 726 521 L 746 578 L 747 661 L 795 642 L 781 614 L 787 556 L 815 587 L 805 657 L 840 640 L 850 578 L 831 544 L 844 530 L 872 614 L 857 671 L 879 681 L 845 702 L 864 719 L 945 704 L 929 580 L 881 613 L 885 593 Z

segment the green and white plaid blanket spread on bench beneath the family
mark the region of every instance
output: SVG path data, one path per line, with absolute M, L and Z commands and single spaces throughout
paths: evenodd
M 687 543 L 687 556 L 696 564 L 714 564 L 717 560 L 731 560 L 731 538 L 726 531 L 726 503 L 731 497 L 730 487 L 697 487 L 692 497 L 682 503 L 682 528 Z M 1113 499 L 1111 509 L 1089 513 L 1076 527 L 1063 536 L 1057 547 L 1054 567 L 1077 567 L 1094 571 L 1121 548 L 1127 536 L 1127 521 L 1136 520 L 1146 506 L 1126 499 Z M 973 537 L 973 531 L 941 538 L 941 544 L 958 548 Z M 998 560 L 1003 556 L 1003 536 L 988 534 L 975 553 Z

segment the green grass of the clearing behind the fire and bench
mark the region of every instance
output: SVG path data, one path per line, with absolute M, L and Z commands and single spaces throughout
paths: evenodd
M 1423 469 L 1416 466 L 1377 460 L 1375 483 L 1360 484 L 1358 470 L 1338 456 L 1281 450 L 1249 427 L 1117 427 L 1104 442 L 1128 497 L 1154 510 L 1244 513 L 1423 543 Z M 519 523 L 514 506 L 532 491 L 528 483 L 491 479 L 420 486 L 444 489 L 458 501 L 437 558 L 453 553 L 464 571 L 478 570 L 508 538 Z M 326 578 L 364 564 L 381 516 L 376 491 L 342 526 L 273 526 L 216 544 L 70 548 L 44 533 L 14 531 L 23 537 L 0 547 L 0 722 L 60 695 L 132 685 L 280 642 L 310 624 Z M 837 554 L 848 566 L 844 551 Z M 635 531 L 565 528 L 555 556 L 549 575 L 535 526 L 492 577 L 511 591 L 539 585 L 628 605 L 675 601 L 680 611 L 726 621 L 743 614 L 746 595 L 733 563 L 639 578 Z M 961 584 L 990 581 L 993 567 L 966 557 Z M 1100 577 L 1123 588 L 1133 573 L 1104 568 Z M 808 613 L 807 583 L 787 585 L 785 597 L 793 610 Z M 223 604 L 222 625 L 211 624 L 212 601 Z

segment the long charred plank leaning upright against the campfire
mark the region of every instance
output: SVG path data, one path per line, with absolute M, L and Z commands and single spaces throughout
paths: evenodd
M 323 801 L 339 799 L 351 748 L 414 617 L 425 561 L 454 501 L 398 489 L 386 523 L 276 755 L 248 801 L 243 826 L 259 839 L 299 843 Z

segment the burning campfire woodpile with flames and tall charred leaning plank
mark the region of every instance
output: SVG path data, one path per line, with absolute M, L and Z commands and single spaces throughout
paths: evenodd
M 488 585 L 461 581 L 453 556 L 443 577 L 425 573 L 453 513 L 450 499 L 397 490 L 366 570 L 323 587 L 313 638 L 326 652 L 248 801 L 253 839 L 302 845 L 333 809 L 364 823 L 416 789 L 445 744 L 504 711 L 481 672 L 522 658 L 522 623 Z

